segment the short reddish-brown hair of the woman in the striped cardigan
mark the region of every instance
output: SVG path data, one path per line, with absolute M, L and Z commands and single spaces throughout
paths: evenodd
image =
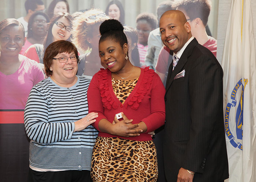
M 52 59 L 59 53 L 62 52 L 68 52 L 69 54 L 71 52 L 74 52 L 76 55 L 76 60 L 79 62 L 79 56 L 78 51 L 76 49 L 76 46 L 67 41 L 67 40 L 58 40 L 53 43 L 51 43 L 45 50 L 44 54 L 44 65 L 45 65 L 45 74 L 46 76 L 52 75 L 52 71 L 50 71 L 50 67 L 52 65 Z

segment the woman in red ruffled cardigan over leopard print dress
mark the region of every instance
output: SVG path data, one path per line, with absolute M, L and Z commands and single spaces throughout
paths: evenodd
M 155 182 L 155 145 L 148 132 L 165 123 L 165 88 L 154 70 L 135 67 L 117 20 L 100 26 L 99 56 L 106 67 L 88 89 L 89 112 L 97 112 L 91 178 L 94 182 Z

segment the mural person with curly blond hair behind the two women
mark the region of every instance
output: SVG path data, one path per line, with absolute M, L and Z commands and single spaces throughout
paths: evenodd
M 100 9 L 90 9 L 73 21 L 73 42 L 86 54 L 79 56 L 78 75 L 90 76 L 99 71 L 99 25 L 109 17 Z

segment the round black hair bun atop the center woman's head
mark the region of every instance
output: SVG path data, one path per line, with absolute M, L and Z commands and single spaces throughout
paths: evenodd
M 99 26 L 99 32 L 101 33 L 101 35 L 108 31 L 123 31 L 123 30 L 124 30 L 123 25 L 118 20 L 115 20 L 115 19 L 105 20 Z

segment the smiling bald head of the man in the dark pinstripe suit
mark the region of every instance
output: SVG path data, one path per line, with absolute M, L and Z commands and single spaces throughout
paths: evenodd
M 191 27 L 180 11 L 165 12 L 160 19 L 159 27 L 163 44 L 175 54 L 191 37 Z

